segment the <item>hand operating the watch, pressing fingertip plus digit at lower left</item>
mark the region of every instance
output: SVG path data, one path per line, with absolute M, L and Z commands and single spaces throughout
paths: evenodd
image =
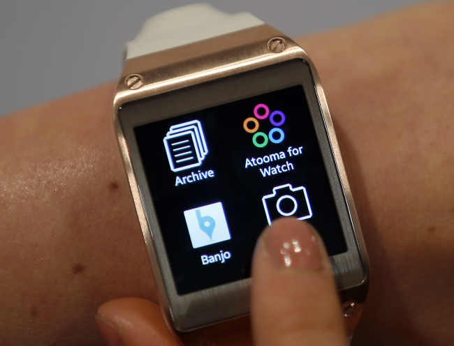
M 267 227 L 258 240 L 252 278 L 254 345 L 346 345 L 330 261 L 307 223 L 281 218 Z M 181 345 L 159 306 L 144 299 L 109 301 L 96 322 L 108 346 Z M 234 343 L 229 337 L 215 345 L 251 345 L 247 334 Z

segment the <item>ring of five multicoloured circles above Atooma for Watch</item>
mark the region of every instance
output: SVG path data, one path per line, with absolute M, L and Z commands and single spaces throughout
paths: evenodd
M 263 113 L 263 114 L 261 114 Z M 272 142 L 274 144 L 281 143 L 285 138 L 285 133 L 279 126 L 285 123 L 286 116 L 280 110 L 275 110 L 270 114 L 270 108 L 265 105 L 264 103 L 259 103 L 254 107 L 254 116 L 250 116 L 243 121 L 243 128 L 247 133 L 254 133 L 252 136 L 252 143 L 258 148 L 263 148 L 268 144 L 268 142 Z M 267 119 L 270 116 L 270 123 L 272 126 L 276 126 L 270 130 L 268 135 L 261 131 L 258 131 L 260 125 L 258 124 L 258 120 Z M 252 126 L 251 126 L 252 124 Z

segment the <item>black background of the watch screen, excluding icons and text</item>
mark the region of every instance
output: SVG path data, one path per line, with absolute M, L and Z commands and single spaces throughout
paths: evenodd
M 258 103 L 268 105 L 270 112 L 280 110 L 286 114 L 286 122 L 279 126 L 286 135 L 280 144 L 268 142 L 264 148 L 257 148 L 252 144 L 253 134 L 244 130 L 244 119 L 254 117 L 254 106 Z M 195 119 L 202 123 L 207 156 L 200 167 L 172 172 L 163 138 L 170 126 Z M 258 120 L 258 131 L 268 134 L 274 127 L 268 119 Z M 307 189 L 313 216 L 306 221 L 321 234 L 328 254 L 337 255 L 346 251 L 302 86 L 137 126 L 134 132 L 178 294 L 250 276 L 256 239 L 268 225 L 262 197 L 271 194 L 273 187 L 286 183 L 291 183 L 293 188 L 305 186 Z M 288 146 L 303 146 L 302 155 L 290 157 Z M 246 158 L 263 157 L 279 151 L 286 153 L 285 159 L 244 168 Z M 266 177 L 259 170 L 269 165 L 282 165 L 286 161 L 292 163 L 295 170 Z M 213 170 L 215 176 L 175 186 L 176 176 L 182 177 L 198 170 Z M 224 205 L 231 239 L 194 249 L 183 212 L 215 202 Z M 201 255 L 214 255 L 220 250 L 229 251 L 232 257 L 225 263 L 202 264 Z

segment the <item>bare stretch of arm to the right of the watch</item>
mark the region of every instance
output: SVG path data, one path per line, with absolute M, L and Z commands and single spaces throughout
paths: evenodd
M 371 262 L 358 345 L 454 339 L 454 3 L 305 39 Z

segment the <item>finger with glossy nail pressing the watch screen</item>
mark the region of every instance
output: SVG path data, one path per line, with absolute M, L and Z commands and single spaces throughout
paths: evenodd
M 330 261 L 307 223 L 281 218 L 265 229 L 252 277 L 256 346 L 346 345 Z

